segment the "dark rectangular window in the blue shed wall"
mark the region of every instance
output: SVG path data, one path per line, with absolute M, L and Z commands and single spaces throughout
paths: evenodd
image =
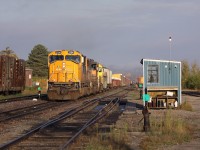
M 148 65 L 148 83 L 158 83 L 158 65 Z

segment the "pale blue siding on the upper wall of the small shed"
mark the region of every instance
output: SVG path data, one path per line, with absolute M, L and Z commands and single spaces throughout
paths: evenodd
M 181 103 L 181 62 L 167 60 L 143 59 L 144 87 L 178 88 L 179 104 Z

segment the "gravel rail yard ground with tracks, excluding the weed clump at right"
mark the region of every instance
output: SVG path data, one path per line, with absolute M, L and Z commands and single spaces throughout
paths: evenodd
M 152 149 L 199 149 L 199 95 L 182 97 L 193 111 L 150 109 L 150 122 L 170 111 L 174 118 L 184 119 L 192 126 L 190 140 L 158 144 Z M 33 98 L 2 102 L 0 149 L 145 149 L 141 145 L 149 132 L 143 131 L 142 103 L 139 91 L 130 88 L 113 89 L 73 102 Z

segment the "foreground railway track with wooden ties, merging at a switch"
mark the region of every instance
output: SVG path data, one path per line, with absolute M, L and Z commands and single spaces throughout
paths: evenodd
M 93 99 L 67 109 L 54 119 L 0 145 L 0 148 L 6 149 L 14 145 L 11 149 L 66 149 L 85 129 L 118 106 L 120 97 L 124 95 L 125 93 L 121 93 L 121 96 L 114 94 L 103 99 Z M 104 105 L 101 105 L 102 102 Z

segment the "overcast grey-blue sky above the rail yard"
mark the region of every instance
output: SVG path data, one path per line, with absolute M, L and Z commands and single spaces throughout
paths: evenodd
M 0 0 L 0 50 L 76 49 L 110 68 L 200 63 L 200 0 Z

